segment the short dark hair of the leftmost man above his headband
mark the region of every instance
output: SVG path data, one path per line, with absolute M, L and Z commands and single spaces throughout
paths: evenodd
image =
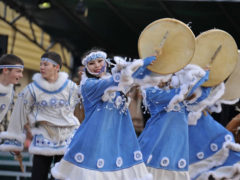
M 16 65 L 16 64 L 24 65 L 24 62 L 21 58 L 19 58 L 14 54 L 4 54 L 0 58 L 0 65 Z M 0 74 L 1 73 L 2 73 L 2 69 L 0 69 Z

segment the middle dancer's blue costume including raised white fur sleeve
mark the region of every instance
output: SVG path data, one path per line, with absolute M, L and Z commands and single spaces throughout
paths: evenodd
M 189 179 L 188 120 L 182 102 L 189 89 L 204 75 L 200 67 L 187 65 L 171 78 L 174 88 L 143 89 L 151 117 L 139 143 L 144 162 L 155 180 Z

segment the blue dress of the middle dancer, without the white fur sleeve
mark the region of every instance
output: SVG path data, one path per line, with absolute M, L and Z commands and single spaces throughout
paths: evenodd
M 179 92 L 179 88 L 145 89 L 145 100 L 151 117 L 139 136 L 139 144 L 144 162 L 155 179 L 188 179 L 189 144 L 186 110 L 184 105 L 179 103 L 173 111 L 166 111 L 170 100 Z

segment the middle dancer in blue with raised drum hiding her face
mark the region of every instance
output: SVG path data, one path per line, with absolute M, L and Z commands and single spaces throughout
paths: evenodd
M 155 49 L 156 45 L 160 47 Z M 183 101 L 205 76 L 200 67 L 188 65 L 195 37 L 182 22 L 161 19 L 145 28 L 139 47 L 143 56 L 157 53 L 154 66 L 148 69 L 158 73 L 150 73 L 140 82 L 151 114 L 138 138 L 144 162 L 154 180 L 189 179 L 188 120 Z

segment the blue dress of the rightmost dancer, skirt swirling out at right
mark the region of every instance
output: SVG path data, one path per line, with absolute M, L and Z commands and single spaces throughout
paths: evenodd
M 204 101 L 211 88 L 201 87 L 202 95 L 195 102 Z M 189 125 L 189 172 L 192 179 L 208 179 L 219 176 L 217 169 L 228 167 L 228 173 L 221 170 L 221 178 L 232 178 L 232 169 L 240 161 L 240 147 L 225 127 L 205 112 L 196 125 Z M 236 166 L 236 165 L 235 165 Z M 216 171 L 216 172 L 214 172 Z M 221 179 L 220 178 L 220 179 Z

